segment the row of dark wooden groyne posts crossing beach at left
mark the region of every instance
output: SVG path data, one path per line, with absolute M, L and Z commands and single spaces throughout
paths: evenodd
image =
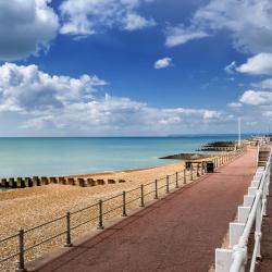
M 106 184 L 118 184 L 125 183 L 124 180 L 94 180 L 94 178 L 83 178 L 83 177 L 64 177 L 64 176 L 33 176 L 33 177 L 10 177 L 1 178 L 0 188 L 26 188 L 42 186 L 48 184 L 62 184 L 72 185 L 81 187 L 91 187 L 97 185 Z

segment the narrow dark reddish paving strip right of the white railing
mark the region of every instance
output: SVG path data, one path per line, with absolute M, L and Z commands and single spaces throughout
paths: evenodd
M 271 185 L 270 185 L 270 195 L 268 196 L 267 213 L 268 217 L 263 218 L 262 221 L 262 238 L 261 238 L 262 262 L 259 262 L 256 265 L 257 272 L 272 271 L 272 186 Z

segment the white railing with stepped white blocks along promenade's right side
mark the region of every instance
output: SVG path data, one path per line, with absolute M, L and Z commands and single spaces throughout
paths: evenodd
M 270 149 L 271 150 L 271 149 Z M 238 207 L 237 221 L 230 223 L 230 248 L 215 249 L 217 272 L 242 272 L 247 264 L 247 244 L 255 224 L 255 248 L 251 257 L 250 272 L 255 271 L 256 261 L 261 258 L 261 224 L 267 215 L 267 196 L 269 194 L 272 152 L 265 168 L 258 168 L 254 181 Z

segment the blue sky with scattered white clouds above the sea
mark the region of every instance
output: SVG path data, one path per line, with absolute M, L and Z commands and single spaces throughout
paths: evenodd
M 0 136 L 272 129 L 271 0 L 0 0 Z

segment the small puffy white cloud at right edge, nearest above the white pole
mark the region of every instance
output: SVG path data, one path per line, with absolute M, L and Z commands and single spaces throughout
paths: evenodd
M 246 90 L 239 101 L 252 106 L 272 106 L 272 92 L 259 90 Z

